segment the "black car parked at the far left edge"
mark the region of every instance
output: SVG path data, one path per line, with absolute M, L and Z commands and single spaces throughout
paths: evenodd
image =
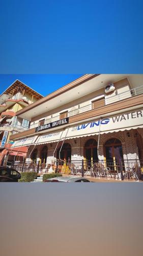
M 17 170 L 0 166 L 0 182 L 18 182 L 18 179 L 21 178 L 21 174 Z

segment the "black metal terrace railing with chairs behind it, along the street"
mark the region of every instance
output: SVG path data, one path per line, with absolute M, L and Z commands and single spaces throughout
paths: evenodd
M 48 173 L 51 164 L 40 164 L 33 162 L 17 162 L 12 164 L 12 167 L 19 172 L 37 172 Z M 143 160 L 131 159 L 113 162 L 111 160 L 79 160 L 79 161 L 59 161 L 56 160 L 52 164 L 53 172 L 64 175 L 79 175 L 89 176 L 93 178 L 108 178 L 108 179 L 142 179 L 143 176 Z

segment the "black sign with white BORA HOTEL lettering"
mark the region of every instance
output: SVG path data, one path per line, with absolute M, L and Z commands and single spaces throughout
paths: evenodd
M 38 126 L 38 127 L 36 127 L 35 132 L 41 132 L 43 130 L 51 129 L 51 128 L 54 128 L 54 127 L 57 127 L 57 126 L 60 126 L 60 125 L 66 124 L 66 123 L 69 123 L 68 117 L 63 118 L 58 121 L 53 121 L 52 123 L 47 123 L 47 124 Z

